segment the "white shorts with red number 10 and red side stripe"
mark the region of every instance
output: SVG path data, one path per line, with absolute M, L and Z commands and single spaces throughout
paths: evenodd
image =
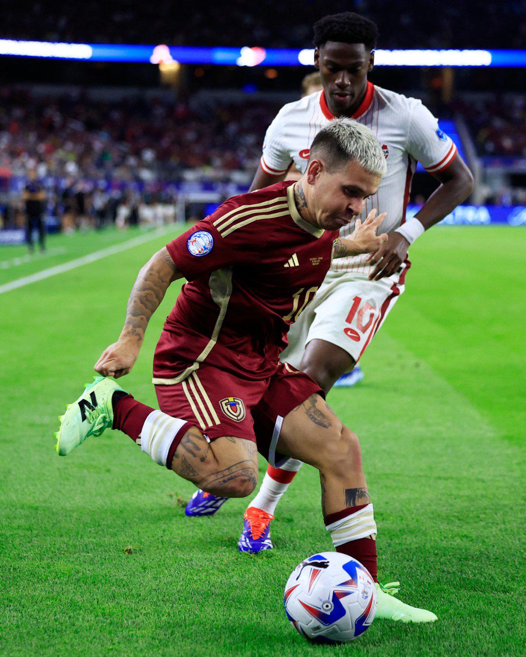
M 410 263 L 403 263 L 389 278 L 369 281 L 367 274 L 329 269 L 312 302 L 289 330 L 289 346 L 281 360 L 299 369 L 311 340 L 341 347 L 357 363 L 404 292 Z

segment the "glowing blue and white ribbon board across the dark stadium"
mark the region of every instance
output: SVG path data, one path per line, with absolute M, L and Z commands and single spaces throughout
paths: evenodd
M 160 62 L 223 66 L 312 66 L 314 49 L 55 43 L 0 39 L 0 56 L 92 62 Z M 526 66 L 526 50 L 377 50 L 376 66 Z

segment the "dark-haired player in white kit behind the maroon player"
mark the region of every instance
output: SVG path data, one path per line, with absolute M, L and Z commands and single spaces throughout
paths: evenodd
M 362 219 L 373 208 L 387 212 L 381 230 L 389 239 L 372 256 L 333 263 L 314 300 L 289 332 L 289 347 L 281 355 L 283 361 L 314 378 L 325 393 L 339 376 L 352 371 L 404 292 L 410 244 L 473 190 L 473 177 L 456 145 L 421 101 L 368 81 L 377 36 L 373 22 L 352 12 L 316 22 L 314 65 L 323 89 L 278 112 L 266 132 L 260 168 L 251 186 L 251 190 L 261 189 L 285 179 L 291 163 L 304 171 L 312 139 L 339 116 L 350 116 L 370 127 L 385 154 L 387 175 L 377 193 L 367 198 Z M 418 161 L 441 185 L 416 216 L 406 221 Z M 359 189 L 348 190 L 349 198 L 359 194 Z M 340 234 L 348 236 L 352 229 L 352 224 L 343 226 Z M 241 551 L 272 549 L 270 521 L 300 466 L 299 461 L 291 460 L 281 468 L 268 467 L 259 493 L 245 512 Z M 199 498 L 199 491 L 196 496 Z M 214 510 L 204 509 L 205 504 L 203 511 L 213 513 L 220 503 L 216 502 Z

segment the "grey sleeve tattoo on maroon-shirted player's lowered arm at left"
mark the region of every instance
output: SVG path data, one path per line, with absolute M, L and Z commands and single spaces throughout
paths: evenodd
M 168 286 L 178 278 L 181 274 L 164 247 L 139 271 L 128 299 L 123 332 L 141 342 Z

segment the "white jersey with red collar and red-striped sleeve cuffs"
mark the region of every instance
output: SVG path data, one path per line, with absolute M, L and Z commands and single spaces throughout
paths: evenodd
M 294 162 L 303 172 L 312 140 L 333 118 L 323 91 L 283 106 L 266 132 L 260 160 L 262 170 L 283 176 Z M 393 233 L 405 221 L 416 162 L 421 162 L 429 173 L 438 173 L 454 160 L 456 146 L 421 101 L 370 82 L 352 118 L 373 131 L 387 160 L 387 173 L 377 193 L 366 200 L 361 218 L 363 220 L 373 208 L 378 214 L 387 212 L 381 231 Z M 353 230 L 354 221 L 344 226 L 340 235 L 348 237 Z M 370 265 L 366 264 L 366 257 L 338 258 L 333 261 L 332 269 L 368 273 Z

